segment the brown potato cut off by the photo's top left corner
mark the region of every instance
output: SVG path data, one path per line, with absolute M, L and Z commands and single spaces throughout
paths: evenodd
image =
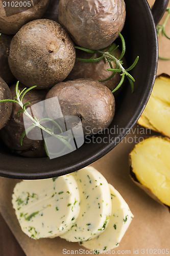
M 26 23 L 41 18 L 48 7 L 49 1 L 50 0 L 26 1 L 25 3 L 29 4 L 27 4 L 26 7 L 13 7 L 11 6 L 11 1 L 8 2 L 9 7 L 7 1 L 6 7 L 3 7 L 3 1 L 0 1 L 0 33 L 16 34 Z

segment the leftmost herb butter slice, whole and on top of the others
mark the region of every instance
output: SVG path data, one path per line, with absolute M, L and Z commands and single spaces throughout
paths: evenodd
M 21 229 L 33 239 L 53 238 L 74 225 L 80 211 L 75 178 L 65 175 L 17 183 L 12 204 Z

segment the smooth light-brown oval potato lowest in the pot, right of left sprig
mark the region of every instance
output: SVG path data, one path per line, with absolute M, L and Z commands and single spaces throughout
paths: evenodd
M 115 100 L 111 91 L 93 79 L 77 79 L 56 84 L 46 99 L 58 97 L 64 116 L 79 116 L 84 135 L 101 132 L 113 120 Z M 53 108 L 46 110 L 53 114 Z

